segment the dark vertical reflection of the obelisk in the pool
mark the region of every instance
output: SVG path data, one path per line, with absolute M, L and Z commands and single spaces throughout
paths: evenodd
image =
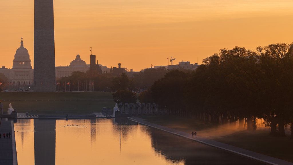
M 34 119 L 35 165 L 55 164 L 56 120 Z

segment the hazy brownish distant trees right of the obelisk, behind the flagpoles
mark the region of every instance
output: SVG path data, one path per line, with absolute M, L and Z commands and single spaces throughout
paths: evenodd
M 73 72 L 68 77 L 56 79 L 56 90 L 88 90 L 116 92 L 117 90 L 130 90 L 138 92 L 148 89 L 151 85 L 162 78 L 168 70 L 165 67 L 149 68 L 144 72 L 122 73 L 114 76 L 110 73 L 99 74 L 96 70 Z M 89 90 L 88 90 L 89 91 Z

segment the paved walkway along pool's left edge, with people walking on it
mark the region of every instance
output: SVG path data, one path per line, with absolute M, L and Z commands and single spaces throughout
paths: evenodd
M 1 119 L 0 119 L 1 120 Z M 11 137 L 3 138 L 3 133 L 11 133 Z M 14 136 L 13 121 L 2 118 L 0 125 L 0 164 L 1 165 L 17 165 L 16 144 Z

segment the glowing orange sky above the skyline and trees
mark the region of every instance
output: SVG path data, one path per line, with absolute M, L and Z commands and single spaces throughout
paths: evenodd
M 171 56 L 201 64 L 221 48 L 292 43 L 292 0 L 54 0 L 55 64 L 77 53 L 90 64 L 140 71 Z M 0 65 L 12 68 L 23 37 L 33 65 L 34 1 L 0 5 Z

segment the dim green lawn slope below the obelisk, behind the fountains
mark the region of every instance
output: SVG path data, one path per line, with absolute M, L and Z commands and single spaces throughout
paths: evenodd
M 113 108 L 110 92 L 0 92 L 4 111 L 9 103 L 17 112 L 102 112 Z

